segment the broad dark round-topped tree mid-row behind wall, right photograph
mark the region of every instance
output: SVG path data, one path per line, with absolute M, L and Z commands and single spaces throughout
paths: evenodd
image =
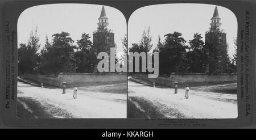
M 187 72 L 186 41 L 180 32 L 164 35 L 165 41 L 159 48 L 159 73 L 171 74 L 173 72 Z

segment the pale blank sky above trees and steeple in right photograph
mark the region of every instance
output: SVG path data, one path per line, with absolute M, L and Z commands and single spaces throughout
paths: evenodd
M 150 27 L 152 44 L 155 48 L 160 35 L 181 32 L 184 39 L 193 39 L 193 33 L 200 33 L 202 37 L 210 28 L 211 18 L 215 5 L 206 4 L 163 4 L 142 7 L 133 12 L 128 22 L 128 45 L 139 43 L 144 29 Z M 233 40 L 237 37 L 237 19 L 232 11 L 225 7 L 217 6 L 218 15 L 221 18 L 221 27 L 226 33 L 228 53 L 230 57 L 235 53 Z M 203 38 L 203 41 L 205 38 Z

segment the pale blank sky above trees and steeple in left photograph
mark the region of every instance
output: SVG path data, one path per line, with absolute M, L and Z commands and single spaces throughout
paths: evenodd
M 122 12 L 113 7 L 104 6 L 109 18 L 109 29 L 114 32 L 117 53 L 122 52 L 122 39 L 127 32 L 126 19 Z M 18 19 L 18 44 L 27 43 L 30 32 L 38 27 L 40 48 L 42 49 L 46 35 L 52 40 L 52 35 L 69 32 L 75 41 L 81 39 L 81 33 L 91 36 L 97 30 L 98 18 L 101 14 L 101 5 L 89 4 L 52 4 L 30 7 L 20 14 Z

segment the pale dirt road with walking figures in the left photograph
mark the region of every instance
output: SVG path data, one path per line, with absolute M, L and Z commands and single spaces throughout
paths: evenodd
M 126 118 L 126 83 L 78 87 L 62 94 L 60 88 L 43 88 L 18 82 L 18 117 Z

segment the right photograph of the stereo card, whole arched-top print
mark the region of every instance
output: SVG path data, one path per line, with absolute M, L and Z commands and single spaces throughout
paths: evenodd
M 127 118 L 238 117 L 237 19 L 228 8 L 141 7 L 127 39 Z

